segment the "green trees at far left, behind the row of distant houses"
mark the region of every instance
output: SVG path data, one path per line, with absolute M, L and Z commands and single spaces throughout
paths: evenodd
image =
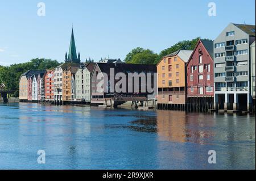
M 28 70 L 45 70 L 60 65 L 56 60 L 34 58 L 22 64 L 0 66 L 0 83 L 4 83 L 7 90 L 15 90 L 13 96 L 19 96 L 19 77 Z

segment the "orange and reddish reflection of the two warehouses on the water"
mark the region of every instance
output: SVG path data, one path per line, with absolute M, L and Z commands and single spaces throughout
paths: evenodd
M 187 115 L 179 111 L 157 111 L 159 140 L 172 142 L 196 142 L 204 145 L 214 133 L 205 127 L 212 127 L 213 120 L 205 121 L 205 115 Z

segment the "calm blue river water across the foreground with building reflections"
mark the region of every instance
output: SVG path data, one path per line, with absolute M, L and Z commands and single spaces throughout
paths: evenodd
M 255 169 L 255 117 L 0 103 L 0 169 Z

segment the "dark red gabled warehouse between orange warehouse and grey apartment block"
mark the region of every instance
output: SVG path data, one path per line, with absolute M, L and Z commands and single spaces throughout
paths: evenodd
M 187 62 L 187 109 L 208 111 L 213 107 L 213 41 L 199 40 Z

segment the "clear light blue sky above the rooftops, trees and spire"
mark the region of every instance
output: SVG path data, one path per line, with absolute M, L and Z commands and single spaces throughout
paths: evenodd
M 38 3 L 46 16 L 38 16 Z M 216 3 L 217 16 L 208 15 Z M 125 58 L 135 47 L 159 53 L 181 40 L 215 39 L 230 22 L 255 24 L 254 0 L 0 0 L 0 65 L 64 61 L 73 23 L 82 61 Z

